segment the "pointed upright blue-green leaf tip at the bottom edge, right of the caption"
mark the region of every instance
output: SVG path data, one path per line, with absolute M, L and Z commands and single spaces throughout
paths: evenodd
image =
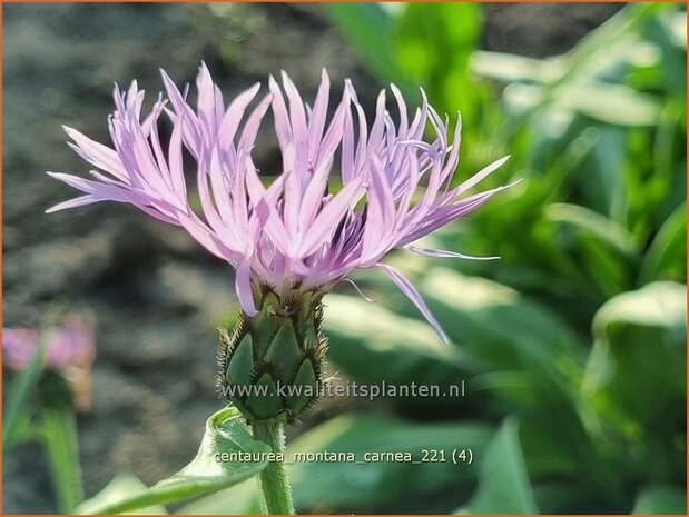
M 519 444 L 516 420 L 505 420 L 495 431 L 480 464 L 479 489 L 471 503 L 460 513 L 539 513 Z

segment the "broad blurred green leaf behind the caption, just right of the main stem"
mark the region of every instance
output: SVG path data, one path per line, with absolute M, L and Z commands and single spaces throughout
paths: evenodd
M 410 422 L 375 415 L 337 417 L 299 436 L 288 448 L 286 459 L 297 453 L 353 453 L 355 461 L 295 461 L 288 468 L 298 508 L 328 508 L 337 513 L 372 509 L 415 509 L 411 501 L 423 501 L 443 491 L 454 501 L 435 508 L 447 511 L 469 494 L 475 479 L 473 465 L 452 461 L 453 449 L 472 449 L 481 457 L 491 435 L 490 427 L 470 422 Z M 443 450 L 445 461 L 413 464 L 403 460 L 370 460 L 365 454 L 411 453 L 423 459 L 423 449 Z M 465 487 L 465 490 L 457 487 Z M 322 511 L 322 510 L 321 510 Z

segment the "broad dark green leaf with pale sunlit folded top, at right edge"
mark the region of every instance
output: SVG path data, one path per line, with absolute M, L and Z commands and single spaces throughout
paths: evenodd
M 640 444 L 637 468 L 647 476 L 681 475 L 686 286 L 654 282 L 613 298 L 596 315 L 593 336 L 582 385 L 591 431 L 611 434 L 612 447 Z

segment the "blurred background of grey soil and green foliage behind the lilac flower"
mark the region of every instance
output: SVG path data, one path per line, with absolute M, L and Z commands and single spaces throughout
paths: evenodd
M 3 326 L 55 300 L 93 321 L 77 417 L 85 493 L 150 486 L 195 454 L 215 395 L 230 269 L 181 230 L 116 203 L 47 216 L 86 172 L 60 125 L 108 141 L 111 88 L 158 68 L 226 98 L 286 70 L 306 98 L 326 67 L 374 107 L 394 81 L 462 111 L 466 178 L 518 186 L 427 245 L 500 261 L 393 253 L 453 344 L 386 278 L 326 298 L 338 381 L 450 386 L 463 398 L 324 399 L 292 451 L 465 449 L 472 465 L 314 463 L 301 513 L 686 511 L 686 10 L 680 4 L 3 4 Z M 256 148 L 277 170 L 266 131 Z M 7 362 L 7 361 L 6 361 Z M 3 400 L 17 375 L 3 372 Z M 27 404 L 30 414 L 31 402 Z M 55 513 L 50 448 L 3 449 L 3 513 Z M 9 449 L 9 450 L 8 450 Z M 129 483 L 130 485 L 127 485 Z M 252 513 L 254 481 L 177 513 Z

